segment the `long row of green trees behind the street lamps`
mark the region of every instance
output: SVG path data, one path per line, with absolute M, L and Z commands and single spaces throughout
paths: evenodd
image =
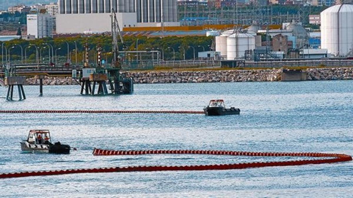
M 151 51 L 158 50 L 161 51 L 161 57 L 164 60 L 173 60 L 175 55 L 175 60 L 184 59 L 184 50 L 185 50 L 185 59 L 191 60 L 194 58 L 194 49 L 195 56 L 197 57 L 197 52 L 199 51 L 208 51 L 212 45 L 213 37 L 206 36 L 186 36 L 186 37 L 136 37 L 136 36 L 125 36 L 123 46 L 119 44 L 120 51 Z M 49 54 L 49 45 L 53 46 L 53 54 L 55 53 L 58 57 L 67 57 L 67 44 L 68 49 L 71 54 L 71 60 L 76 59 L 76 47 L 77 47 L 77 56 L 78 62 L 83 60 L 83 54 L 85 51 L 85 44 L 88 44 L 90 61 L 95 61 L 97 47 L 100 46 L 104 55 L 107 56 L 108 60 L 112 58 L 112 54 L 109 52 L 112 51 L 112 38 L 110 35 L 100 35 L 100 36 L 89 36 L 89 37 L 65 37 L 65 38 L 42 38 L 36 39 L 34 41 L 26 41 L 23 39 L 14 39 L 12 41 L 4 42 L 4 46 L 10 50 L 11 58 L 10 60 L 20 61 L 22 58 L 21 50 L 23 54 L 23 60 L 26 59 L 29 61 L 36 60 L 36 47 L 38 51 L 41 52 L 41 57 L 44 60 L 48 60 Z M 49 44 L 49 45 L 48 45 Z M 0 42 L 0 45 L 2 43 Z M 138 46 L 138 49 L 136 47 Z M 21 49 L 22 47 L 22 49 Z M 175 54 L 173 52 L 175 51 Z M 2 49 L 1 49 L 2 50 Z M 4 55 L 6 54 L 5 48 L 3 51 Z M 50 53 L 51 50 L 50 50 Z M 40 56 L 38 55 L 38 56 Z M 51 55 L 52 56 L 52 55 Z M 155 55 L 156 56 L 156 55 Z M 47 57 L 47 58 L 44 58 Z M 0 55 L 1 58 L 1 55 Z M 151 57 L 145 57 L 151 58 Z M 6 59 L 6 58 L 4 58 Z M 64 59 L 66 60 L 66 59 Z M 75 60 L 76 61 L 76 60 Z

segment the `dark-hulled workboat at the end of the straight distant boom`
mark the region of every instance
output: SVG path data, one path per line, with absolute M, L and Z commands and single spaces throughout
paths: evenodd
M 211 100 L 210 104 L 203 109 L 206 116 L 239 115 L 240 109 L 231 107 L 226 109 L 223 100 Z

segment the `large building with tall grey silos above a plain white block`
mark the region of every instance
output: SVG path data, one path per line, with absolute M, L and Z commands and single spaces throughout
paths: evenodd
M 122 28 L 180 26 L 177 0 L 59 0 L 56 33 L 110 31 L 112 9 Z

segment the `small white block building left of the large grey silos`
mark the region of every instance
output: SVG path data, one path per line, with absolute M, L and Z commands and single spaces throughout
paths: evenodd
M 35 38 L 53 36 L 53 20 L 50 14 L 27 14 L 27 35 Z

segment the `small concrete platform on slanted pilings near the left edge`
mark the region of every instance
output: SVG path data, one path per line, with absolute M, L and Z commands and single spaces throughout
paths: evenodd
M 24 76 L 7 76 L 5 78 L 5 85 L 8 86 L 6 100 L 13 100 L 13 88 L 17 85 L 19 100 L 25 100 L 26 95 L 24 93 L 23 85 L 26 83 L 26 77 Z

